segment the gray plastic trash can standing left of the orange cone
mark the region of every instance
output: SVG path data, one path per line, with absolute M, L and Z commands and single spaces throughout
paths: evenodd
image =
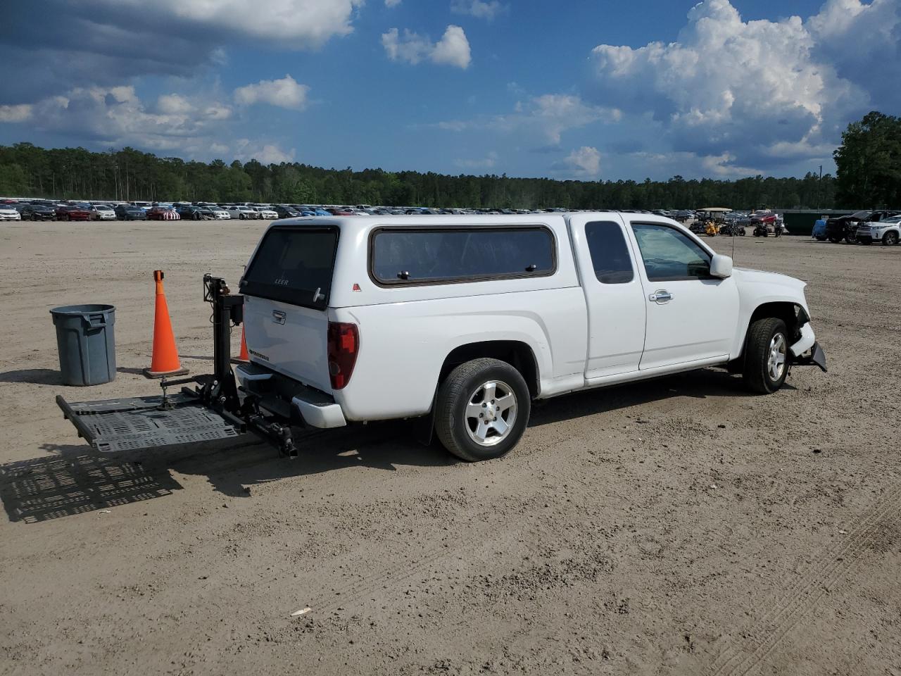
M 66 385 L 100 385 L 115 379 L 114 306 L 50 310 L 57 327 L 59 370 Z

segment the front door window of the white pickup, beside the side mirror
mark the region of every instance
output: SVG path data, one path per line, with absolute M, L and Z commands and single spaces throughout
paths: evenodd
M 633 224 L 649 281 L 708 279 L 710 254 L 669 225 Z

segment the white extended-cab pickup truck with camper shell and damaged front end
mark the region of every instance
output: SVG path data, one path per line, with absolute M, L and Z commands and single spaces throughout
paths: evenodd
M 792 364 L 825 370 L 804 288 L 654 215 L 292 218 L 241 279 L 235 376 L 297 423 L 430 416 L 485 460 L 532 399 L 711 366 L 770 393 Z

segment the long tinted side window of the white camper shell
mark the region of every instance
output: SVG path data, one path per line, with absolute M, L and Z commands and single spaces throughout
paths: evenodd
M 556 269 L 543 226 L 383 228 L 372 237 L 370 273 L 379 284 L 429 284 L 542 277 Z

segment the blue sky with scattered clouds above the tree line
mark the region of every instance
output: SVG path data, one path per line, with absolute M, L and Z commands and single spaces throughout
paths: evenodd
M 898 113 L 899 3 L 8 0 L 0 143 L 587 180 L 831 171 L 847 123 Z

